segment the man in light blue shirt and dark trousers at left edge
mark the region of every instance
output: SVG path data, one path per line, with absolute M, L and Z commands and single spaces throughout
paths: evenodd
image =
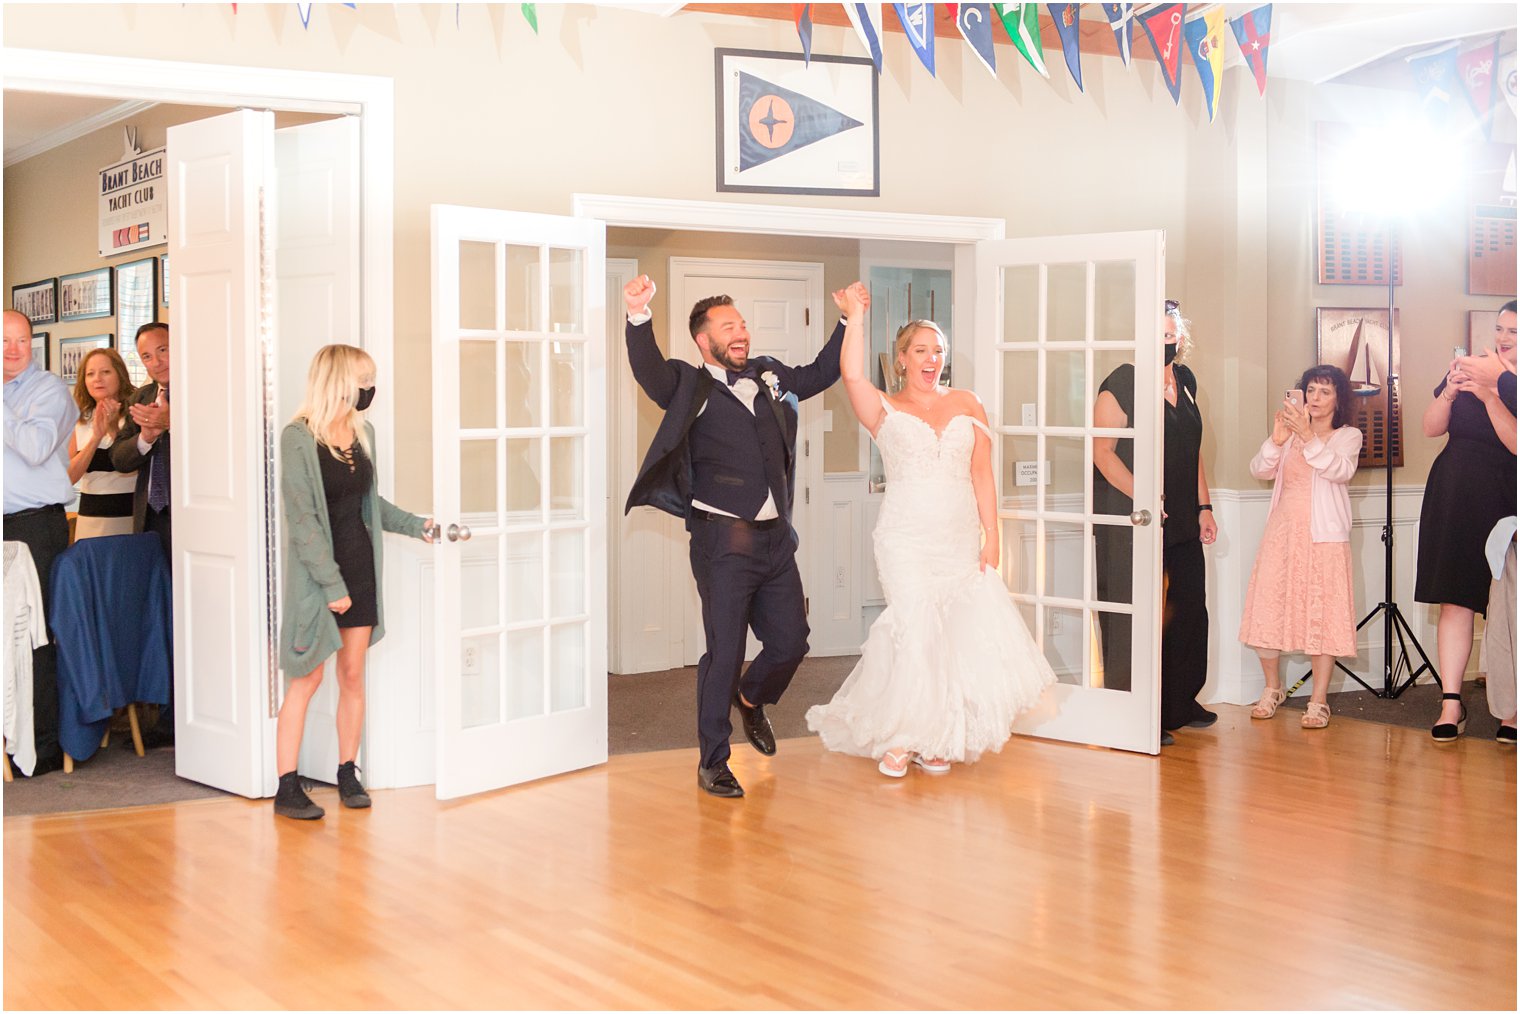
M 53 558 L 68 549 L 64 505 L 68 435 L 79 420 L 68 388 L 32 362 L 32 322 L 5 312 L 5 538 L 26 543 L 36 564 L 44 611 Z M 36 739 L 33 777 L 64 766 L 58 745 L 58 652 L 52 642 L 32 649 L 32 715 Z

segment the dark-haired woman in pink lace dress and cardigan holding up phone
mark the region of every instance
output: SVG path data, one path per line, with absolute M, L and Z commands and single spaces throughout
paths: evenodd
M 1295 395 L 1303 392 L 1303 407 Z M 1266 690 L 1251 718 L 1272 718 L 1287 696 L 1281 655 L 1310 658 L 1313 693 L 1300 725 L 1330 724 L 1330 672 L 1356 655 L 1351 600 L 1351 497 L 1362 430 L 1351 426 L 1351 385 L 1335 366 L 1312 366 L 1283 398 L 1251 474 L 1272 479 L 1272 508 L 1251 570 L 1240 642 L 1256 649 Z

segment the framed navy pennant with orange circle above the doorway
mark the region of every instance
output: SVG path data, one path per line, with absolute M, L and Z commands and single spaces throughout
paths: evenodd
M 719 192 L 880 196 L 868 58 L 719 49 L 714 67 Z

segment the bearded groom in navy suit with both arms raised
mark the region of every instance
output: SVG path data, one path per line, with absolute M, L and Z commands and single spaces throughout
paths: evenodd
M 707 651 L 696 666 L 696 783 L 719 797 L 745 794 L 728 769 L 730 707 L 762 754 L 775 753 L 765 705 L 781 699 L 807 654 L 807 611 L 796 570 L 792 485 L 796 476 L 796 404 L 839 380 L 844 321 L 807 366 L 749 359 L 749 330 L 728 296 L 692 307 L 690 330 L 702 366 L 666 359 L 655 344 L 640 275 L 623 287 L 628 363 L 664 420 L 628 506 L 657 506 L 686 518 L 692 576 L 702 597 Z M 763 649 L 743 680 L 746 629 Z

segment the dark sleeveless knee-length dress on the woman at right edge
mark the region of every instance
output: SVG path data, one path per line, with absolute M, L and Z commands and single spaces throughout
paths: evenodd
M 1436 397 L 1442 391 L 1446 380 L 1436 386 Z M 1514 414 L 1512 388 L 1509 397 L 1500 398 Z M 1420 508 L 1415 602 L 1450 602 L 1487 616 L 1490 573 L 1484 544 L 1494 524 L 1515 512 L 1515 456 L 1494 432 L 1488 409 L 1467 391 L 1452 403 L 1446 433 L 1446 447 L 1430 462 Z

